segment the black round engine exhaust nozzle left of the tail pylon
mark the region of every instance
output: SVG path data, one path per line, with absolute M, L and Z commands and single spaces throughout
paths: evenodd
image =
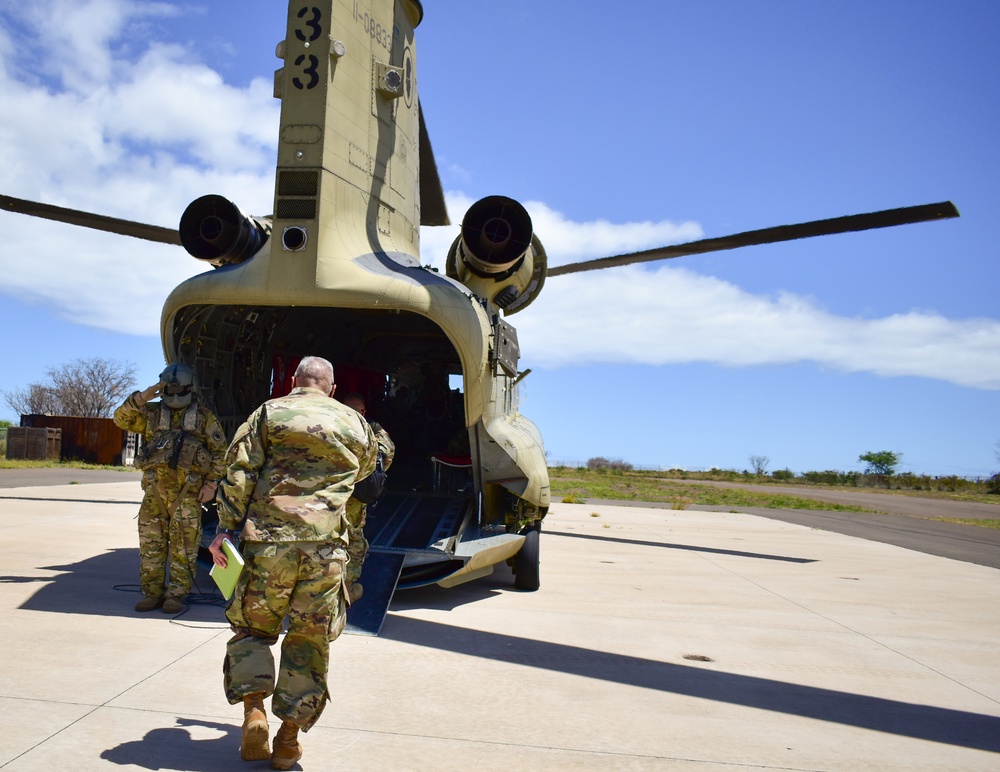
M 255 255 L 271 228 L 267 221 L 247 217 L 229 199 L 208 195 L 188 204 L 178 231 L 189 254 L 221 268 Z

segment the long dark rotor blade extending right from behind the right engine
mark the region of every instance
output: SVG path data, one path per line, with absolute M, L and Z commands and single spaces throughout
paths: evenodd
M 775 228 L 763 228 L 757 231 L 734 233 L 731 236 L 690 241 L 687 244 L 676 244 L 669 247 L 657 247 L 642 252 L 630 252 L 613 257 L 600 257 L 595 260 L 584 260 L 579 263 L 560 265 L 549 268 L 547 276 L 560 276 L 580 271 L 596 271 L 600 268 L 613 268 L 631 263 L 646 263 L 653 260 L 666 260 L 685 255 L 700 255 L 705 252 L 721 252 L 726 249 L 737 249 L 755 244 L 774 244 L 779 241 L 807 239 L 813 236 L 829 236 L 835 233 L 849 233 L 873 228 L 889 228 L 895 225 L 926 222 L 928 220 L 944 220 L 958 217 L 958 209 L 951 201 L 937 204 L 922 204 L 908 206 L 902 209 L 884 209 L 881 212 L 854 214 L 846 217 L 834 217 L 829 220 L 812 220 L 797 225 L 779 225 Z

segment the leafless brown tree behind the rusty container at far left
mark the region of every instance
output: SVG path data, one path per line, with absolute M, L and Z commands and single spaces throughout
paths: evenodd
M 131 362 L 114 359 L 76 359 L 47 371 L 51 383 L 33 383 L 26 389 L 4 392 L 10 408 L 21 415 L 50 414 L 82 418 L 110 418 L 115 407 L 135 386 Z

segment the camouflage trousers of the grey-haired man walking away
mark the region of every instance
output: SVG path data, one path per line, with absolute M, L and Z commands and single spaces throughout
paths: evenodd
M 226 646 L 223 681 L 231 704 L 273 694 L 271 710 L 308 730 L 330 693 L 330 641 L 344 630 L 347 599 L 342 547 L 323 542 L 243 542 L 246 566 L 226 618 L 236 633 Z M 275 677 L 271 646 L 285 616 Z

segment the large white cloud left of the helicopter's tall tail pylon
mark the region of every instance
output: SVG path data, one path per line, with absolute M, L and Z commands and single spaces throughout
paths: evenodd
M 136 18 L 171 6 L 61 0 L 53 22 L 44 5 L 2 6 L 26 25 L 0 40 L 2 192 L 168 227 L 210 192 L 270 210 L 278 107 L 269 83 L 229 86 L 179 47 L 125 50 L 122 39 L 143 39 Z M 58 66 L 41 83 L 27 61 Z M 156 334 L 169 291 L 205 269 L 175 247 L 0 217 L 0 292 L 80 324 Z

